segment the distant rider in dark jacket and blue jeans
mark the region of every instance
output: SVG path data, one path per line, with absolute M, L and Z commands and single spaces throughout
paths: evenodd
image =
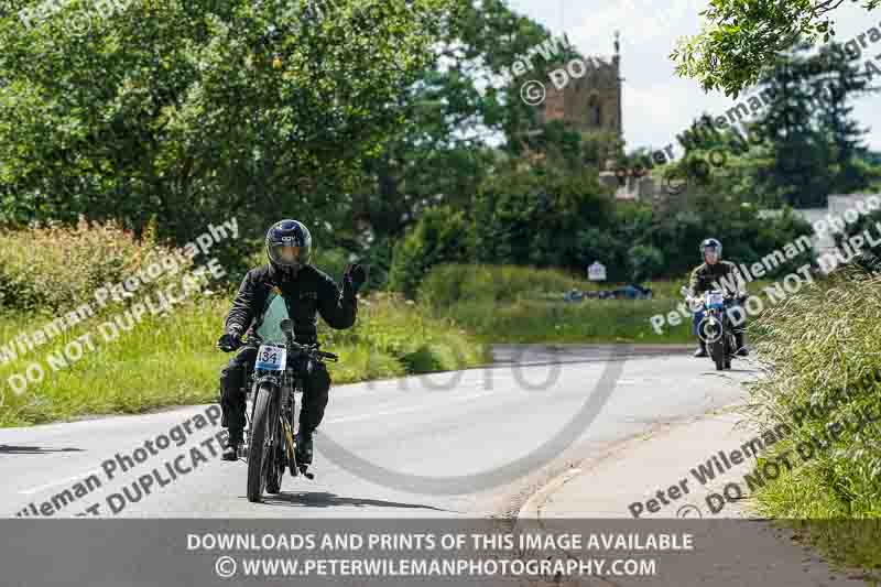
M 738 295 L 743 291 L 743 280 L 735 263 L 729 263 L 721 259 L 721 242 L 714 238 L 705 239 L 700 243 L 700 256 L 704 262 L 692 271 L 692 278 L 688 283 L 690 297 L 699 297 L 704 292 L 710 290 L 726 290 L 732 295 Z M 707 344 L 698 330 L 700 322 L 704 319 L 704 311 L 695 312 L 692 319 L 692 333 L 698 340 L 695 357 L 706 357 Z M 743 344 L 743 322 L 733 325 L 735 346 L 737 347 L 735 354 L 738 357 L 749 355 L 749 350 Z

